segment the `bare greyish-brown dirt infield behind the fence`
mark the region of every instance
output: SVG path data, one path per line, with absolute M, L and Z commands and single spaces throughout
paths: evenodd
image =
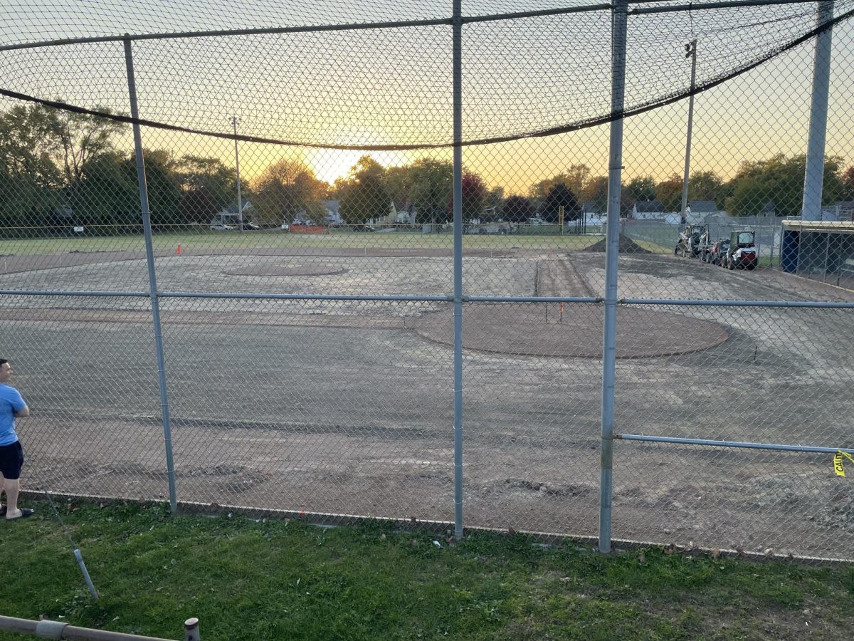
M 98 260 L 0 276 L 0 288 L 147 286 L 142 261 Z M 159 263 L 169 291 L 451 288 L 447 256 Z M 470 294 L 596 296 L 604 256 L 515 250 L 466 256 L 465 269 Z M 620 259 L 621 297 L 851 295 L 771 270 Z M 20 425 L 30 487 L 165 495 L 148 306 L 3 297 L 3 350 L 35 409 Z M 851 446 L 850 310 L 621 309 L 617 432 Z M 453 520 L 448 303 L 165 298 L 161 313 L 180 499 Z M 595 534 L 600 307 L 468 303 L 463 318 L 466 525 Z M 617 441 L 614 483 L 617 538 L 854 558 L 851 479 L 830 455 Z

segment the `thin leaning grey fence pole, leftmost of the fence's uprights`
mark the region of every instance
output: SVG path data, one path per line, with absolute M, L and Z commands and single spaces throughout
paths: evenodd
M 139 106 L 137 104 L 137 80 L 133 73 L 133 53 L 131 38 L 125 38 L 125 64 L 127 67 L 127 90 L 131 98 L 133 117 L 133 144 L 137 156 L 137 181 L 139 183 L 139 203 L 143 212 L 143 232 L 145 233 L 145 259 L 149 266 L 149 294 L 151 296 L 151 316 L 155 326 L 155 351 L 157 353 L 157 379 L 161 394 L 163 413 L 163 438 L 166 442 L 166 469 L 169 481 L 169 508 L 174 513 L 178 509 L 175 497 L 175 465 L 172 456 L 172 426 L 169 423 L 169 395 L 166 386 L 166 364 L 163 357 L 163 336 L 161 334 L 160 303 L 157 299 L 157 275 L 155 273 L 155 251 L 151 240 L 151 210 L 149 209 L 149 190 L 145 182 L 145 159 L 143 157 L 143 137 L 139 129 Z

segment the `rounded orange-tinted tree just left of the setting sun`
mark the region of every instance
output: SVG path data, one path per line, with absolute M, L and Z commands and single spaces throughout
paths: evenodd
M 267 167 L 252 185 L 258 220 L 290 222 L 301 209 L 318 215 L 326 185 L 317 179 L 305 162 L 282 158 Z

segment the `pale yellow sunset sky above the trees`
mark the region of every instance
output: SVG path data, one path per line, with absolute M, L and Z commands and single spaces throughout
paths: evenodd
M 414 7 L 407 10 L 415 11 Z M 602 46 L 607 15 L 585 16 L 589 16 L 584 24 L 590 32 L 574 32 L 570 40 L 559 32 L 575 24 L 570 22 L 544 23 L 556 31 L 529 33 L 524 40 L 516 39 L 518 26 L 514 25 L 496 25 L 484 32 L 478 46 L 491 57 L 486 60 L 464 55 L 464 135 L 501 135 L 514 131 L 512 127 L 531 131 L 560 124 L 564 115 L 578 118 L 604 113 L 610 95 L 610 61 L 607 46 Z M 672 20 L 681 25 L 684 16 Z M 443 75 L 448 62 L 447 29 L 431 29 L 348 32 L 328 38 L 288 34 L 274 41 L 202 38 L 204 43 L 194 42 L 191 47 L 180 40 L 134 44 L 142 115 L 157 120 L 163 114 L 178 123 L 214 131 L 230 131 L 231 115 L 237 115 L 241 133 L 269 135 L 264 127 L 272 123 L 281 128 L 282 135 L 340 144 L 360 140 L 371 144 L 445 141 L 451 113 L 451 87 Z M 655 85 L 644 83 L 666 80 L 667 74 L 676 74 L 678 78 L 672 82 L 677 84 L 685 81 L 690 63 L 682 57 L 681 38 L 670 42 L 650 39 L 649 47 L 657 49 L 643 50 L 644 34 L 637 29 L 632 34 L 635 48 L 634 57 L 629 56 L 630 96 L 660 95 Z M 559 41 L 553 40 L 559 35 Z M 773 43 L 773 32 L 764 37 Z M 704 39 L 699 38 L 699 68 L 705 69 L 706 75 L 717 68 L 714 66 L 725 64 L 720 58 L 722 36 L 715 32 L 709 38 L 713 44 L 710 40 L 706 50 Z M 589 49 L 591 43 L 595 43 L 595 51 Z M 358 58 L 352 67 L 346 56 L 338 57 L 336 47 L 342 44 L 347 47 L 344 54 Z M 272 49 L 264 50 L 264 46 Z M 519 46 L 521 51 L 512 50 Z M 107 101 L 116 109 L 128 111 L 121 44 L 85 47 L 3 52 L 0 85 L 21 91 L 32 89 L 36 95 L 62 97 L 87 106 L 94 106 L 87 100 L 98 97 L 100 103 Z M 573 51 L 578 47 L 582 51 L 579 57 L 586 56 L 588 66 L 572 68 Z M 395 63 L 401 48 L 406 48 L 405 67 Z M 515 57 L 505 49 L 512 50 Z M 699 94 L 694 113 L 693 170 L 711 170 L 727 178 L 747 160 L 804 153 L 812 52 L 811 43 L 801 45 Z M 286 54 L 287 59 L 272 54 Z M 647 68 L 658 58 L 669 66 Z M 245 60 L 246 68 L 234 68 L 235 61 L 241 60 Z M 41 75 L 35 77 L 34 69 Z M 254 70 L 252 77 L 247 76 L 248 69 Z M 544 79 L 548 78 L 555 82 L 547 85 Z M 661 91 L 667 86 L 662 85 Z M 309 101 L 305 91 L 317 95 Z M 0 109 L 11 104 L 0 101 Z M 852 121 L 854 26 L 849 21 L 834 30 L 827 146 L 828 155 L 845 157 L 846 165 L 854 164 Z M 629 118 L 624 132 L 625 179 L 647 174 L 661 179 L 681 173 L 686 122 L 687 100 Z M 505 187 L 507 194 L 527 191 L 529 185 L 573 164 L 586 164 L 592 175 L 601 175 L 606 173 L 608 133 L 609 126 L 605 125 L 548 138 L 466 147 L 465 168 L 481 174 L 490 187 Z M 178 156 L 215 156 L 228 166 L 234 163 L 229 140 L 143 128 L 143 144 L 173 150 Z M 120 145 L 132 149 L 129 132 Z M 319 179 L 331 183 L 345 176 L 359 157 L 368 153 L 243 142 L 239 147 L 247 182 L 272 162 L 289 157 L 303 160 Z M 424 156 L 449 161 L 451 150 L 370 155 L 389 166 Z

